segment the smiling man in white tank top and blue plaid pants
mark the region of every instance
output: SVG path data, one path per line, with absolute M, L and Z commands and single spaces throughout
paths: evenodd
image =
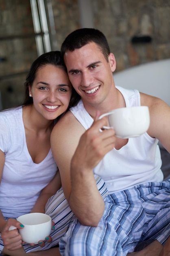
M 61 240 L 61 254 L 159 256 L 170 230 L 170 181 L 163 182 L 157 141 L 170 152 L 170 107 L 161 99 L 115 86 L 115 57 L 96 29 L 73 31 L 61 53 L 81 96 L 51 136 L 63 191 L 77 217 Z M 148 106 L 147 132 L 121 139 L 113 129 L 102 129 L 108 120 L 98 120 L 101 114 L 131 106 Z M 104 199 L 94 174 L 107 185 Z M 148 246 L 135 252 L 143 241 Z

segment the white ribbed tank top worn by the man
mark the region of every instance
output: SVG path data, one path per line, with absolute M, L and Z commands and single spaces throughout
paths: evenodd
M 116 86 L 122 93 L 126 107 L 140 106 L 140 94 L 137 90 L 127 90 Z M 87 130 L 93 123 L 79 101 L 70 111 Z M 128 143 L 116 150 L 109 151 L 100 163 L 93 169 L 107 184 L 108 193 L 131 188 L 145 182 L 161 182 L 161 155 L 158 140 L 150 137 L 147 132 L 135 138 L 129 138 Z

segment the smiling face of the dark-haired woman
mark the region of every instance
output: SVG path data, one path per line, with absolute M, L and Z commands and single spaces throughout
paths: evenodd
M 53 120 L 68 108 L 72 85 L 62 67 L 48 64 L 37 70 L 29 94 L 32 94 L 35 110 L 44 118 Z

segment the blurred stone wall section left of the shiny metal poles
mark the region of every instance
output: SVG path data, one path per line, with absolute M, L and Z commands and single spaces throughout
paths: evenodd
M 2 108 L 18 105 L 24 81 L 37 58 L 29 0 L 0 0 L 0 93 Z

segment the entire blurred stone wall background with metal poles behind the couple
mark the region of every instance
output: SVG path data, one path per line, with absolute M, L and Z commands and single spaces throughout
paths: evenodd
M 35 58 L 81 27 L 105 34 L 117 73 L 170 59 L 170 0 L 0 0 L 0 109 L 22 102 Z

